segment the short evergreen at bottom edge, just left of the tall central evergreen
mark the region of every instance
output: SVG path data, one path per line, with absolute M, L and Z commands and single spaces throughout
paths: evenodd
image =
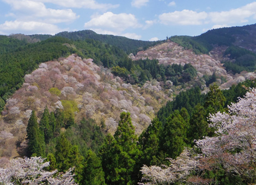
M 84 168 L 82 172 L 82 185 L 105 185 L 104 172 L 101 166 L 100 158 L 96 154 L 89 150 L 84 162 Z

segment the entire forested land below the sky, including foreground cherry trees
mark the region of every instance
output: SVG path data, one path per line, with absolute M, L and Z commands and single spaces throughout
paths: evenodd
M 0 184 L 256 183 L 254 32 L 0 36 Z

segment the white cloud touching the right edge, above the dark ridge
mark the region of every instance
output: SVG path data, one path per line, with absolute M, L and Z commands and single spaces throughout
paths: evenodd
M 216 24 L 234 24 L 248 22 L 248 18 L 256 15 L 256 2 L 230 11 L 209 13 L 211 22 Z

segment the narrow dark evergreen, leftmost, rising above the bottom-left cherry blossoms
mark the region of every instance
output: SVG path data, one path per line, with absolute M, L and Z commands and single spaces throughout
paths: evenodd
M 44 136 L 39 131 L 35 111 L 32 111 L 27 126 L 28 156 L 45 156 Z

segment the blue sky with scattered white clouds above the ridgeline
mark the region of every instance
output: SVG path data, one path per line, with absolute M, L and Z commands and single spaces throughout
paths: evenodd
M 90 29 L 137 40 L 256 23 L 249 0 L 0 0 L 0 35 Z

